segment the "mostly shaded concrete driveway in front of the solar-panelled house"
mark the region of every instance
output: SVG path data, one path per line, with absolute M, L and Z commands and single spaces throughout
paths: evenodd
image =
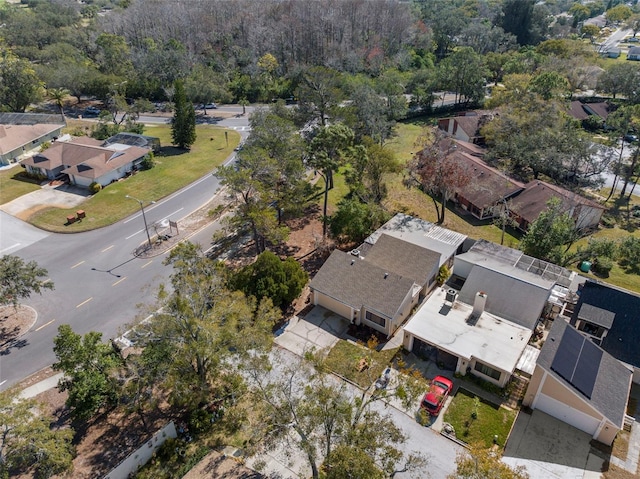
M 531 479 L 595 479 L 603 460 L 590 453 L 591 436 L 534 410 L 520 411 L 502 460 L 525 466 Z

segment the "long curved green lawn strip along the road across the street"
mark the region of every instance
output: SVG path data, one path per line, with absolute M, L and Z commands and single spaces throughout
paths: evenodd
M 162 151 L 156 155 L 156 166 L 117 183 L 113 183 L 71 209 L 46 208 L 33 214 L 29 222 L 55 232 L 75 233 L 110 225 L 140 208 L 131 195 L 145 202 L 157 201 L 188 185 L 219 166 L 240 141 L 240 135 L 228 131 L 226 145 L 223 129 L 211 125 L 198 125 L 198 138 L 189 152 L 166 146 L 171 144 L 171 128 L 168 125 L 147 126 L 145 135 L 160 138 Z M 213 192 L 212 192 L 213 193 Z M 67 215 L 83 209 L 86 218 L 65 226 Z

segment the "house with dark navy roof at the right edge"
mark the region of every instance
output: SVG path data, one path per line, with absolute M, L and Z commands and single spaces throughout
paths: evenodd
M 571 325 L 631 368 L 640 384 L 640 296 L 591 280 L 578 294 Z

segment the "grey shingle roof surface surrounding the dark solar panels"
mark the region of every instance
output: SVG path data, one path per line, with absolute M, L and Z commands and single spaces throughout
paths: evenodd
M 564 384 L 567 389 L 573 391 L 577 396 L 600 411 L 612 423 L 622 427 L 631 387 L 632 372 L 608 354 L 605 349 L 597 370 L 591 398 L 581 394 L 570 382 L 551 368 L 553 360 L 559 351 L 562 338 L 568 328 L 572 328 L 572 326 L 562 319 L 557 319 L 553 322 L 547 340 L 538 356 L 538 365 Z

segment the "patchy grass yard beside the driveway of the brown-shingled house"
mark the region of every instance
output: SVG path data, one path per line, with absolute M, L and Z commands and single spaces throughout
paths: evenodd
M 398 349 L 375 351 L 364 345 L 361 346 L 340 339 L 329 351 L 325 366 L 334 373 L 366 389 L 380 377 L 384 368 L 391 364 L 391 360 L 398 352 Z M 367 361 L 368 367 L 359 371 L 358 365 L 363 358 Z

